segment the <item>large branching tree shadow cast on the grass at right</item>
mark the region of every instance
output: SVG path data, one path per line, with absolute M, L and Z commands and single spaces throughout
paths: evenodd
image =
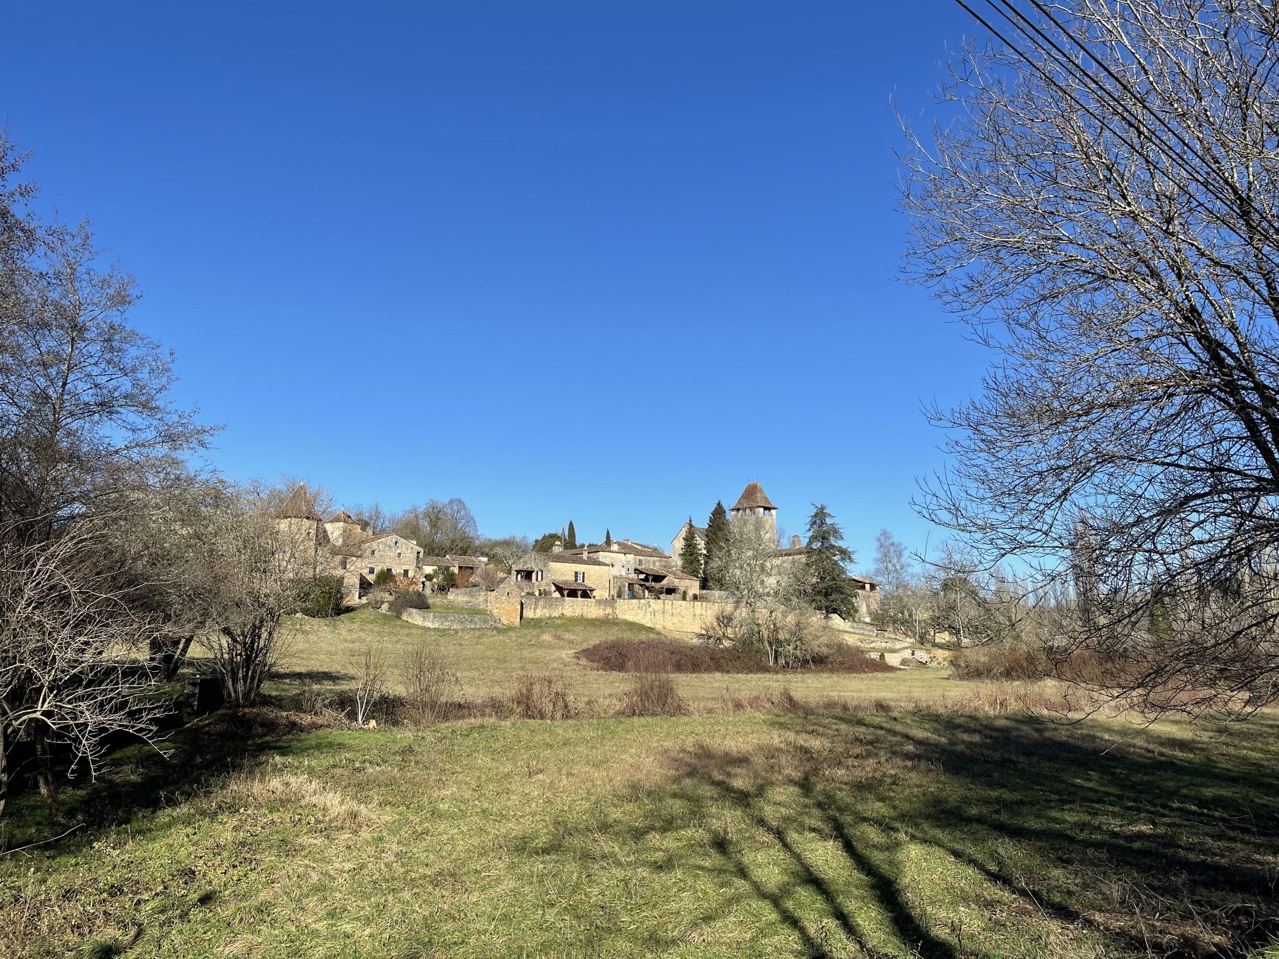
M 760 744 L 673 752 L 664 781 L 527 852 L 590 861 L 582 836 L 642 846 L 732 820 L 650 868 L 710 873 L 815 956 L 1233 959 L 1279 932 L 1274 719 L 1216 742 L 957 715 L 771 722 Z

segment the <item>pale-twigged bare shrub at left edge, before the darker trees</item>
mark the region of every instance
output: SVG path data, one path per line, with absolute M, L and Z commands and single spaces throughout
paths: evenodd
M 164 706 L 148 647 L 168 633 L 139 612 L 122 584 L 116 540 L 101 520 L 65 527 L 51 542 L 22 545 L 0 529 L 0 812 L 9 748 L 29 731 L 40 791 L 58 815 L 50 747 L 70 748 L 72 768 L 96 775 L 106 737 L 156 742 Z

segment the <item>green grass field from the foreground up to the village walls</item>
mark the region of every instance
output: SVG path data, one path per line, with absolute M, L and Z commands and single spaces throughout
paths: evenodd
M 405 632 L 412 630 L 412 632 Z M 628 624 L 441 634 L 468 694 Z M 422 630 L 307 623 L 294 671 Z M 434 632 L 432 632 L 434 635 Z M 280 685 L 286 692 L 290 680 Z M 711 710 L 716 684 L 679 676 Z M 13 802 L 0 955 L 1279 955 L 1279 719 L 1223 735 L 953 711 L 934 671 L 797 678 L 948 711 L 467 721 L 379 731 L 256 710 Z M 762 687 L 761 687 L 762 688 Z M 1266 951 L 1269 949 L 1269 951 Z

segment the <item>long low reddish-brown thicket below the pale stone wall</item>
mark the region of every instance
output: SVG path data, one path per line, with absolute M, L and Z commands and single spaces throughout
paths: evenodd
M 574 653 L 609 673 L 895 673 L 844 643 L 819 650 L 808 666 L 770 666 L 755 650 L 664 639 L 605 639 Z

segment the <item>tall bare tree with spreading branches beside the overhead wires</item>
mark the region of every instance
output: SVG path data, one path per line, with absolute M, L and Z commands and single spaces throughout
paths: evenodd
M 1154 711 L 1279 697 L 1279 12 L 1035 3 L 907 127 L 907 274 L 995 352 L 922 513 Z M 1013 18 L 1010 18 L 1013 19 Z M 1046 38 L 1046 40 L 1045 40 Z

